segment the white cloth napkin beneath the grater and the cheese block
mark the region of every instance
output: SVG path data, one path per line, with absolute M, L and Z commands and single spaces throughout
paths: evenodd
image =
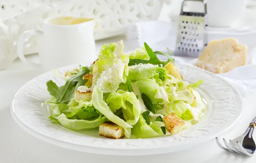
M 127 31 L 127 40 L 137 42 L 142 47 L 146 42 L 154 51 L 167 52 L 166 47 L 174 51 L 177 27 L 168 21 L 143 21 L 131 24 Z M 214 39 L 212 34 L 211 39 Z M 256 91 L 256 48 L 249 49 L 247 64 L 229 72 L 217 74 L 226 79 L 243 97 Z M 195 66 L 197 58 L 173 56 L 175 63 Z

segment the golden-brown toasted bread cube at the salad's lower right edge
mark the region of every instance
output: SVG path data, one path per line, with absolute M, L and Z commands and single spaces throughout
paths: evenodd
M 177 117 L 174 113 L 164 116 L 163 122 L 165 124 L 165 128 L 171 134 L 180 132 L 186 124 L 182 119 Z

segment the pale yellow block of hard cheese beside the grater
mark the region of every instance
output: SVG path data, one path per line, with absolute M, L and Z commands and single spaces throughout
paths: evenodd
M 235 38 L 210 41 L 196 66 L 214 73 L 225 73 L 246 63 L 248 47 Z

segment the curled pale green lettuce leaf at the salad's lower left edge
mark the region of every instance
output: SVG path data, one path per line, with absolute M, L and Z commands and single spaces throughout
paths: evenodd
M 54 101 L 54 97 L 49 101 Z M 53 104 L 53 103 L 50 103 Z M 61 124 L 70 130 L 82 130 L 95 128 L 107 121 L 107 118 L 102 116 L 100 112 L 92 107 L 91 102 L 79 101 L 74 99 L 70 103 L 53 104 L 49 108 L 49 120 L 54 124 Z

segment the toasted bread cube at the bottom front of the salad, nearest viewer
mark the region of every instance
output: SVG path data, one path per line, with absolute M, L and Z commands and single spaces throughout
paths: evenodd
M 113 122 L 104 122 L 99 127 L 99 134 L 111 139 L 122 139 L 125 137 L 125 130 Z

